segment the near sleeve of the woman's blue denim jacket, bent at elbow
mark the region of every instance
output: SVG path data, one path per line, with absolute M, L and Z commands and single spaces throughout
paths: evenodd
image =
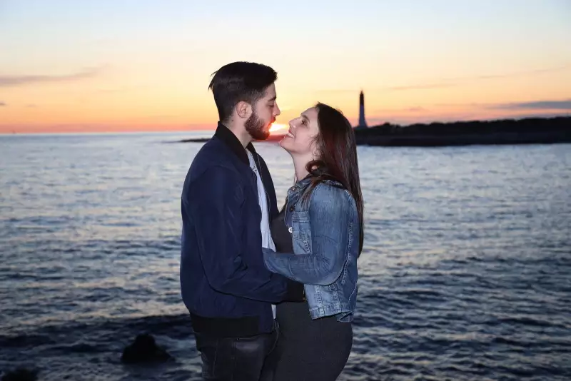
M 266 267 L 308 285 L 335 282 L 348 255 L 351 208 L 343 189 L 324 183 L 316 186 L 309 200 L 311 253 L 295 255 L 263 249 Z

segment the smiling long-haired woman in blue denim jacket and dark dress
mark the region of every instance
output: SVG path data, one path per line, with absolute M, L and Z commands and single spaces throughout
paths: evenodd
M 280 142 L 295 179 L 264 249 L 266 267 L 304 283 L 305 302 L 277 307 L 274 381 L 336 380 L 353 344 L 363 197 L 353 128 L 323 103 L 290 121 Z

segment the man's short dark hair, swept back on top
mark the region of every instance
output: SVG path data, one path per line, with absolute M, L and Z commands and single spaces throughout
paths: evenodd
M 223 123 L 228 122 L 238 102 L 253 106 L 278 78 L 273 68 L 254 62 L 233 62 L 222 66 L 213 75 L 208 88 L 212 90 L 218 118 Z

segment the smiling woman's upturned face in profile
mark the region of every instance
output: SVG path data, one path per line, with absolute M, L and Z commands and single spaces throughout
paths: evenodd
M 317 108 L 303 111 L 290 121 L 288 133 L 280 141 L 280 146 L 292 155 L 315 157 L 315 138 L 319 134 Z

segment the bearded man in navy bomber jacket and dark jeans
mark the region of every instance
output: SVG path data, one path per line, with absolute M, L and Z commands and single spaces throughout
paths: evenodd
M 218 127 L 183 186 L 181 293 L 206 380 L 266 377 L 264 360 L 278 339 L 272 303 L 303 299 L 303 285 L 268 271 L 261 251 L 274 248 L 269 221 L 278 208 L 251 141 L 268 138 L 280 114 L 276 78 L 272 68 L 248 62 L 216 71 L 208 88 Z

